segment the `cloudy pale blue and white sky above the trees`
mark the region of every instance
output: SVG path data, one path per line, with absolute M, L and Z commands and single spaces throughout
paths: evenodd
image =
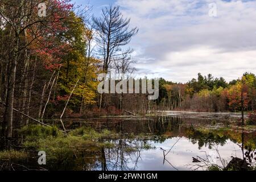
M 119 5 L 130 27 L 137 77 L 187 82 L 197 73 L 237 79 L 256 73 L 256 1 L 223 0 L 73 0 L 100 16 Z

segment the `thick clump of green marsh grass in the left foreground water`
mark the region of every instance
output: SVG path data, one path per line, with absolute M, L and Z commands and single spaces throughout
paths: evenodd
M 25 126 L 20 130 L 24 137 L 24 152 L 20 153 L 20 160 L 29 158 L 29 155 L 37 155 L 38 151 L 45 151 L 47 154 L 47 166 L 75 166 L 76 160 L 82 156 L 100 155 L 101 148 L 114 148 L 112 139 L 118 138 L 118 134 L 109 130 L 97 132 L 90 127 L 80 127 L 72 130 L 64 136 L 57 127 L 46 127 L 40 125 Z M 14 155 L 19 159 L 18 151 Z M 10 151 L 4 154 L 12 155 Z M 67 168 L 63 168 L 67 169 Z

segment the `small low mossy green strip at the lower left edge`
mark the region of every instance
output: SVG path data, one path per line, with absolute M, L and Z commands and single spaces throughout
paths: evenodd
M 26 160 L 28 159 L 28 153 L 25 151 L 0 151 L 0 160 Z

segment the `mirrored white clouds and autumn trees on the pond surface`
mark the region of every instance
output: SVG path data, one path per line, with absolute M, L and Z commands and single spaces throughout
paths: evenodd
M 115 121 L 110 118 L 100 123 L 101 127 L 113 129 L 119 133 L 147 136 L 143 139 L 120 139 L 114 149 L 104 148 L 101 152 L 101 167 L 96 170 L 191 170 L 207 169 L 216 162 L 224 169 L 233 159 L 245 160 L 251 166 L 255 164 L 255 133 L 222 129 L 200 130 L 194 126 L 212 125 L 212 121 L 200 123 L 198 119 L 180 117 L 142 118 L 139 120 Z M 113 118 L 112 118 L 113 119 Z M 113 120 L 112 120 L 113 121 Z M 99 123 L 87 123 L 92 127 Z M 214 126 L 226 126 L 219 121 Z M 117 127 L 119 126 L 119 127 Z M 151 146 L 147 150 L 143 146 Z M 103 155 L 102 155 L 103 154 Z M 207 165 L 193 163 L 195 159 L 209 158 L 214 154 L 216 161 Z

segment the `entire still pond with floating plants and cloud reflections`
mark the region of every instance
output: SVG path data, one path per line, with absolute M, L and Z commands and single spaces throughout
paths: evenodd
M 58 121 L 47 121 L 56 125 Z M 67 129 L 91 127 L 118 133 L 103 139 L 112 147 L 83 148 L 63 163 L 49 163 L 54 170 L 184 171 L 224 169 L 233 159 L 255 166 L 256 132 L 241 127 L 240 119 L 209 114 L 165 114 L 145 117 L 65 119 Z M 50 146 L 49 146 L 50 147 Z M 36 159 L 24 166 L 36 167 Z M 239 160 L 238 160 L 239 161 Z M 34 163 L 31 163 L 34 162 Z

